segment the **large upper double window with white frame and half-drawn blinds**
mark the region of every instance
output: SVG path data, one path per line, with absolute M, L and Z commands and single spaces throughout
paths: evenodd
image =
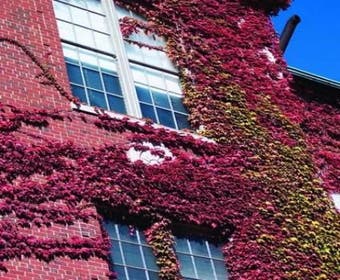
M 142 30 L 122 37 L 119 18 L 142 17 L 111 0 L 53 3 L 72 92 L 81 102 L 175 129 L 189 126 L 164 39 Z

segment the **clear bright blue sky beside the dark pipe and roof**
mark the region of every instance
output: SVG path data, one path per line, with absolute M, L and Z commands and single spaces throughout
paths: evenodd
M 294 14 L 301 18 L 287 47 L 289 66 L 340 82 L 340 0 L 295 0 L 273 23 L 281 33 Z

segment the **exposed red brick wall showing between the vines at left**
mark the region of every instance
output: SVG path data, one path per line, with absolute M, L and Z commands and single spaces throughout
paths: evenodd
M 52 1 L 18 0 L 0 1 L 0 37 L 15 40 L 30 50 L 45 66 L 50 67 L 57 82 L 70 91 L 61 44 L 54 18 Z M 34 143 L 42 138 L 57 141 L 76 140 L 84 146 L 123 142 L 122 135 L 99 131 L 82 119 L 83 113 L 72 112 L 70 101 L 61 96 L 52 85 L 44 85 L 44 78 L 37 75 L 41 69 L 20 47 L 7 41 L 0 43 L 0 102 L 19 109 L 50 109 L 72 115 L 72 121 L 52 121 L 48 128 L 23 127 L 16 136 L 25 142 Z M 87 115 L 91 120 L 91 116 Z M 13 217 L 6 217 L 6 219 Z M 98 237 L 102 233 L 98 221 L 85 224 L 75 222 L 72 226 L 22 228 L 26 235 L 40 238 L 62 239 L 69 237 Z M 66 257 L 51 262 L 22 257 L 6 263 L 8 272 L 0 272 L 1 279 L 107 279 L 106 261 L 91 258 L 71 260 Z

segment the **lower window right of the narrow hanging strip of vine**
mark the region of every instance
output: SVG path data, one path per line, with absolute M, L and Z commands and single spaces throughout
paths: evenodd
M 222 250 L 204 239 L 176 238 L 175 250 L 185 280 L 226 280 Z

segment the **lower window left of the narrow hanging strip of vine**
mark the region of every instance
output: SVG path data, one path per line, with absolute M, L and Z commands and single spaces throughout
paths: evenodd
M 113 269 L 118 280 L 157 280 L 159 268 L 143 232 L 127 225 L 104 222 L 111 241 Z

